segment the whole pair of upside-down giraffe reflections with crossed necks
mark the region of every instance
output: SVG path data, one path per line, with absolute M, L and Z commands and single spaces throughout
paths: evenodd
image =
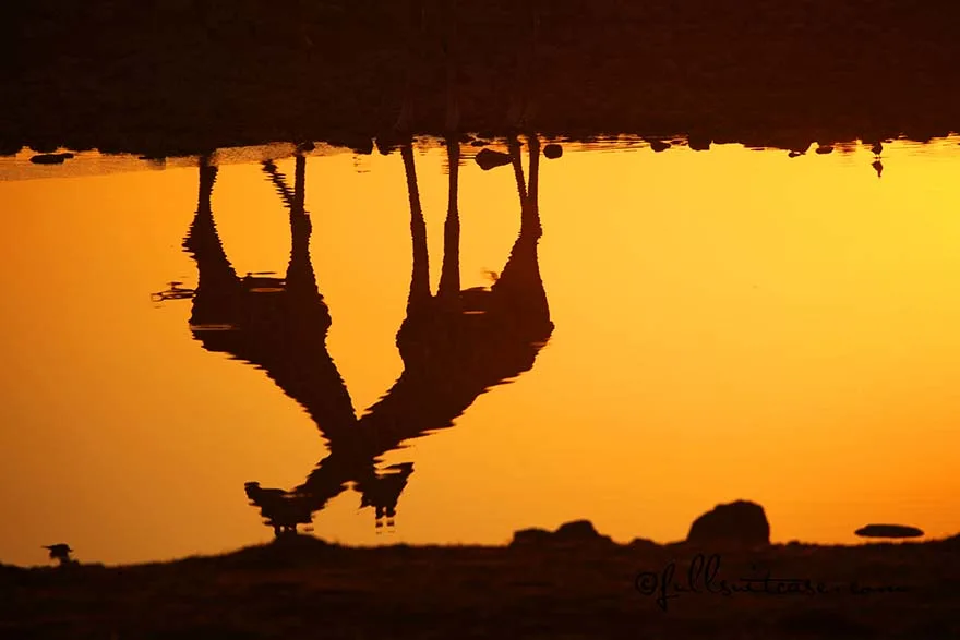
M 297 153 L 293 188 L 272 162 L 263 171 L 290 214 L 292 243 L 284 278 L 239 277 L 214 224 L 211 195 L 217 168 L 200 162 L 196 215 L 184 240 L 197 268 L 190 325 L 208 351 L 227 353 L 263 370 L 299 402 L 327 440 L 328 455 L 291 490 L 248 482 L 247 496 L 277 536 L 296 533 L 352 483 L 361 507 L 372 506 L 376 526 L 393 524 L 413 464 L 377 469 L 380 458 L 405 440 L 453 426 L 478 396 L 533 366 L 553 323 L 537 255 L 540 144 L 528 142 L 529 183 L 520 143 L 509 143 L 520 203 L 520 232 L 500 277 L 488 288 L 460 289 L 457 191 L 459 143 L 446 141 L 449 198 L 444 255 L 436 294 L 430 291 L 427 227 L 420 206 L 413 150 L 401 145 L 410 202 L 412 275 L 406 318 L 396 343 L 404 371 L 393 387 L 358 418 L 327 351 L 331 315 L 309 254 L 312 224 L 304 209 L 305 164 Z

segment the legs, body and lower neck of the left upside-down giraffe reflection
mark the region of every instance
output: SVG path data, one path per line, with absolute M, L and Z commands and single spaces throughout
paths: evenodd
M 326 350 L 329 311 L 316 288 L 310 261 L 311 222 L 303 208 L 305 164 L 296 159 L 295 189 L 271 162 L 264 171 L 290 209 L 292 237 L 286 277 L 239 278 L 220 244 L 211 210 L 217 168 L 201 160 L 200 203 L 183 246 L 197 266 L 190 318 L 194 338 L 262 369 L 297 399 L 325 433 L 356 420 L 350 396 Z M 314 389 L 324 393 L 315 394 Z

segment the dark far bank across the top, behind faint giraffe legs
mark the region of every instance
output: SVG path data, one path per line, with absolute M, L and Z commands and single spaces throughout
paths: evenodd
M 428 0 L 428 15 L 442 2 Z M 529 24 L 460 1 L 461 125 L 502 133 Z M 527 83 L 541 133 L 806 147 L 960 129 L 960 3 L 541 0 Z M 433 9 L 431 9 L 433 8 Z M 399 0 L 32 0 L 0 21 L 0 152 L 188 155 L 278 140 L 369 148 L 397 118 Z M 428 21 L 412 128 L 441 133 Z

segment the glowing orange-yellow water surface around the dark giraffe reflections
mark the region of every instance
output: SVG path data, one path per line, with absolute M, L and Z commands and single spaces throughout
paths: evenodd
M 960 529 L 956 141 L 466 148 L 0 183 L 0 560 Z

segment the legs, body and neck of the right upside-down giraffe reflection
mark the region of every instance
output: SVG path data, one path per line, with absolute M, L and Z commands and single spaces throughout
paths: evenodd
M 553 330 L 537 256 L 541 236 L 537 206 L 539 142 L 536 138 L 530 142 L 529 191 L 524 184 L 519 143 L 514 141 L 511 150 L 520 196 L 519 237 L 493 287 L 461 291 L 457 210 L 459 149 L 458 143 L 447 140 L 451 173 L 444 256 L 439 291 L 432 295 L 427 230 L 412 148 L 410 145 L 401 148 L 413 240 L 407 315 L 397 334 L 404 372 L 358 421 L 350 432 L 352 437 L 331 439 L 329 457 L 321 461 L 298 488 L 299 495 L 324 498 L 336 482 L 331 481 L 328 470 L 341 468 L 339 459 L 372 460 L 399 447 L 406 439 L 452 426 L 454 419 L 480 394 L 532 367 L 537 353 Z M 369 491 L 363 487 L 369 486 L 369 482 L 380 482 L 386 492 L 371 469 L 355 479 L 364 496 Z M 314 504 L 322 506 L 320 499 Z M 386 515 L 391 516 L 389 510 Z

